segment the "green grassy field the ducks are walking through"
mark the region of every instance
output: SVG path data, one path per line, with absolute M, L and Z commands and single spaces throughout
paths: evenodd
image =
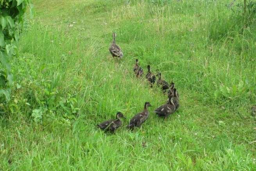
M 0 169 L 256 169 L 256 25 L 243 31 L 229 1 L 33 3 L 12 98 L 0 105 Z M 121 60 L 108 51 L 113 31 Z M 134 77 L 136 58 L 175 82 L 181 104 L 166 121 L 152 111 L 167 98 Z M 153 107 L 136 131 L 95 127 L 117 111 L 126 125 L 146 101 Z

